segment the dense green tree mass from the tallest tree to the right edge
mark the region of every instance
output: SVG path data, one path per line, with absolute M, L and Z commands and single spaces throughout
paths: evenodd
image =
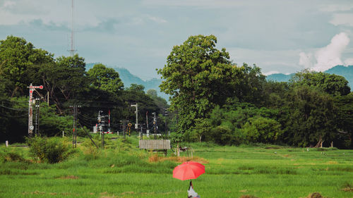
M 218 144 L 273 143 L 352 148 L 353 94 L 339 75 L 302 70 L 289 82 L 229 59 L 213 35 L 174 46 L 160 88 L 178 112 L 174 138 Z

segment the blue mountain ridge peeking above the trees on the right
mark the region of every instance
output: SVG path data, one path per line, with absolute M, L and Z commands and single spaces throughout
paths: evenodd
M 353 89 L 353 66 L 335 66 L 333 68 L 330 68 L 329 70 L 325 70 L 323 73 L 330 73 L 330 74 L 335 74 L 335 75 L 342 75 L 343 77 L 346 78 L 349 82 L 349 86 Z M 291 74 L 282 74 L 282 73 L 274 73 L 271 75 L 268 75 L 266 77 L 267 80 L 273 80 L 277 82 L 287 82 L 292 78 L 294 73 Z

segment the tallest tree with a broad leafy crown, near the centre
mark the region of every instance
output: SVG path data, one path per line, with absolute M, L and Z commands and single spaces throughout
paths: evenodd
M 216 49 L 216 43 L 213 35 L 191 36 L 173 47 L 167 65 L 157 71 L 164 79 L 160 89 L 172 96 L 171 109 L 179 112 L 179 132 L 191 128 L 196 119 L 207 117 L 215 104 L 222 103 L 229 92 L 227 83 L 238 73 L 228 52 Z

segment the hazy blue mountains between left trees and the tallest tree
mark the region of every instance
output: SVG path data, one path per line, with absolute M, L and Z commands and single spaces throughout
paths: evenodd
M 97 63 L 88 63 L 86 64 L 86 70 L 89 70 Z M 108 66 L 109 67 L 109 66 Z M 162 83 L 162 79 L 152 78 L 151 80 L 142 80 L 138 78 L 138 76 L 131 74 L 126 68 L 114 68 L 116 72 L 119 73 L 121 81 L 124 82 L 124 87 L 130 87 L 131 84 L 143 85 L 145 87 L 145 92 L 148 89 L 155 89 L 157 91 L 157 95 L 169 100 L 169 95 L 160 92 L 160 84 Z

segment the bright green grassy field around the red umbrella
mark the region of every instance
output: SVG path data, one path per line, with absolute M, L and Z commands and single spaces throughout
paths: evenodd
M 55 164 L 1 163 L 0 197 L 187 197 L 189 181 L 172 178 L 176 157 L 139 151 L 136 139 L 129 142 L 118 140 L 104 151 L 79 145 L 75 156 Z M 190 146 L 206 167 L 193 180 L 201 197 L 353 197 L 352 150 Z M 1 149 L 30 159 L 28 148 Z

